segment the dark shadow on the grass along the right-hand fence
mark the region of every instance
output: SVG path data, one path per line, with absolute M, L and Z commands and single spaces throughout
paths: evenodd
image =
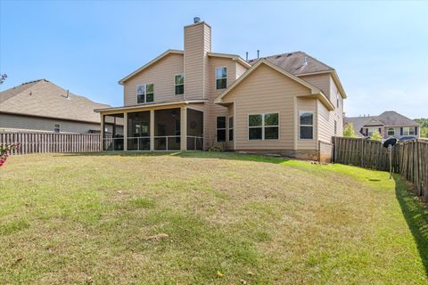
M 425 274 L 428 277 L 428 207 L 416 195 L 408 191 L 404 179 L 399 175 L 393 175 L 393 178 L 399 206 L 416 241 L 419 256 L 424 263 Z

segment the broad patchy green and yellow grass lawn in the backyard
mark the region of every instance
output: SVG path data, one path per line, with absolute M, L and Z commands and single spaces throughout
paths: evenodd
M 0 284 L 428 284 L 399 176 L 232 153 L 0 167 Z

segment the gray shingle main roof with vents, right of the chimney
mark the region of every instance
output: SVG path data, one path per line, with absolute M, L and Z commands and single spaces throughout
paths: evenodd
M 262 57 L 260 59 L 266 59 L 293 75 L 334 70 L 324 62 L 318 61 L 309 54 L 303 52 L 281 53 Z M 257 61 L 259 60 L 253 59 L 248 62 L 254 65 Z

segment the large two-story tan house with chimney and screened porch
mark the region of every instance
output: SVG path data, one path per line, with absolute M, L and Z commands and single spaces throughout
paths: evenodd
M 250 61 L 211 50 L 211 27 L 184 28 L 184 50 L 168 50 L 119 80 L 124 105 L 97 110 L 103 150 L 262 152 L 317 159 L 320 142 L 342 135 L 343 99 L 336 71 L 306 53 Z

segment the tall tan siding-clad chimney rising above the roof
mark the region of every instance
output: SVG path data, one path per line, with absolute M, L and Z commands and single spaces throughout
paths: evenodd
M 205 97 L 210 37 L 210 27 L 203 22 L 185 27 L 185 100 Z

